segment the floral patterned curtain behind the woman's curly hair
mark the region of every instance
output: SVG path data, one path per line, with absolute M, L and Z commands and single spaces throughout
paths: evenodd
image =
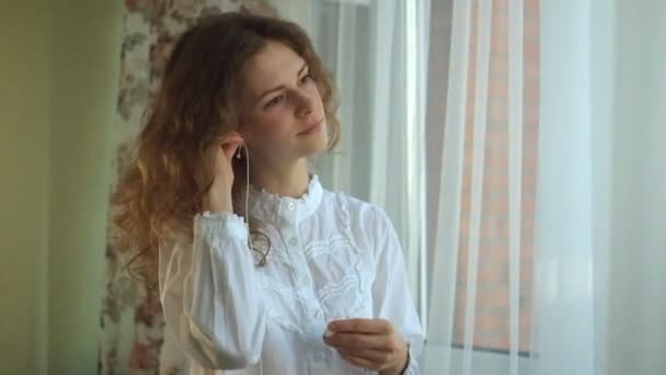
M 117 120 L 113 129 L 115 170 L 119 171 L 140 128 L 141 115 L 173 43 L 199 18 L 229 11 L 275 14 L 265 0 L 125 0 Z M 116 173 L 117 175 L 117 173 Z M 112 189 L 113 190 L 113 189 Z M 111 230 L 111 226 L 108 226 Z M 107 239 L 113 238 L 110 232 Z M 101 311 L 99 373 L 180 374 L 183 354 L 163 348 L 163 316 L 145 285 L 123 272 L 125 260 L 106 245 L 106 282 Z M 169 363 L 160 363 L 160 353 Z

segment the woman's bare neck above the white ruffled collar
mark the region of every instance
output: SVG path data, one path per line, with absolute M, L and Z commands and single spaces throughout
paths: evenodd
M 279 166 L 251 162 L 250 167 L 252 184 L 257 189 L 263 189 L 271 194 L 296 198 L 308 192 L 310 177 L 305 158 Z

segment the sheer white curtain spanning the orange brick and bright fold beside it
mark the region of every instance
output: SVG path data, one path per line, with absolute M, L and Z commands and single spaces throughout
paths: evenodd
M 609 174 L 592 4 L 460 0 L 450 14 L 426 373 L 596 374 Z

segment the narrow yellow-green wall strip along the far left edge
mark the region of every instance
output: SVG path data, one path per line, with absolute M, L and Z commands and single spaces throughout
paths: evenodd
M 46 364 L 50 123 L 45 3 L 16 1 L 9 12 L 2 7 L 0 22 L 0 374 L 43 373 Z

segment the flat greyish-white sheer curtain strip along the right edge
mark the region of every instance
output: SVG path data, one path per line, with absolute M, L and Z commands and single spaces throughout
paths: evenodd
M 615 14 L 608 373 L 666 374 L 666 3 Z

